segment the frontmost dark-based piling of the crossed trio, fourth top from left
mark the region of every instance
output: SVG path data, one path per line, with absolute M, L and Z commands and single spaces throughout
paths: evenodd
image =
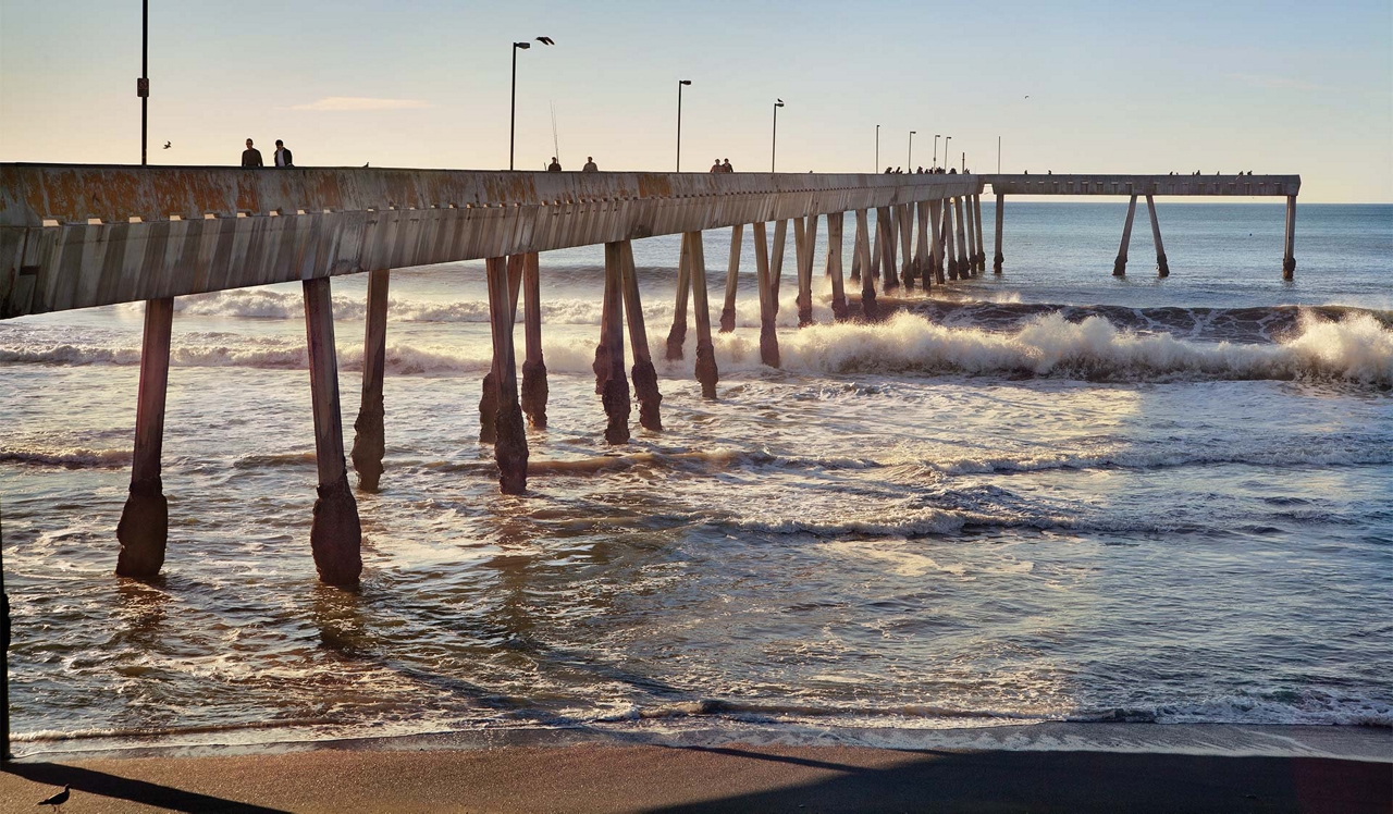
M 514 256 L 521 261 L 521 255 Z M 517 315 L 514 265 L 511 256 L 489 258 L 483 262 L 489 282 L 489 328 L 493 335 L 493 381 L 497 390 L 495 396 L 497 438 L 493 442 L 493 460 L 499 464 L 499 486 L 504 495 L 527 492 L 527 431 L 522 428 L 517 358 L 513 351 L 513 322 Z

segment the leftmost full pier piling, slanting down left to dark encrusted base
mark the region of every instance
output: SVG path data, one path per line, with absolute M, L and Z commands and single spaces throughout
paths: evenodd
M 164 394 L 169 389 L 173 325 L 173 297 L 145 301 L 131 489 L 116 527 L 116 538 L 121 541 L 116 573 L 123 577 L 153 577 L 164 566 L 170 510 L 160 481 L 160 450 L 164 446 Z

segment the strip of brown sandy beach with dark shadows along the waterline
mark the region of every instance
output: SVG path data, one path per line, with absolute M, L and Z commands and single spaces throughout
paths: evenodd
M 1389 733 L 1365 746 L 1382 751 Z M 1309 811 L 1393 810 L 1393 762 L 1337 757 L 837 746 L 316 748 L 26 758 L 0 813 L 72 785 L 106 811 Z

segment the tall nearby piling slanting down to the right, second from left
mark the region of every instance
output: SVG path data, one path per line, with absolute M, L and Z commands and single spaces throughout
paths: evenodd
M 319 580 L 357 585 L 362 574 L 362 525 L 358 502 L 348 488 L 343 420 L 338 413 L 338 361 L 329 277 L 304 282 L 305 335 L 309 347 L 309 390 L 315 415 L 315 463 L 319 499 L 309 528 L 309 548 Z

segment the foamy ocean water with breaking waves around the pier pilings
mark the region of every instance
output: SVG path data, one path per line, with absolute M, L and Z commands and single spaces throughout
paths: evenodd
M 790 236 L 781 369 L 747 230 L 717 401 L 694 329 L 663 361 L 678 238 L 635 241 L 664 431 L 635 410 L 617 447 L 603 247 L 543 254 L 525 496 L 478 442 L 482 263 L 394 270 L 359 592 L 309 555 L 298 286 L 176 302 L 148 583 L 113 574 L 142 305 L 0 322 L 14 751 L 1393 728 L 1393 206 L 1301 205 L 1293 282 L 1280 205 L 1165 201 L 1170 277 L 1142 216 L 1114 279 L 1124 210 L 1007 201 L 1002 276 L 882 295 L 876 325 L 832 325 L 819 270 L 797 328 Z M 988 199 L 983 222 L 990 261 Z M 705 236 L 716 316 L 729 240 Z M 823 224 L 818 269 L 825 247 Z M 333 280 L 348 446 L 365 290 Z

